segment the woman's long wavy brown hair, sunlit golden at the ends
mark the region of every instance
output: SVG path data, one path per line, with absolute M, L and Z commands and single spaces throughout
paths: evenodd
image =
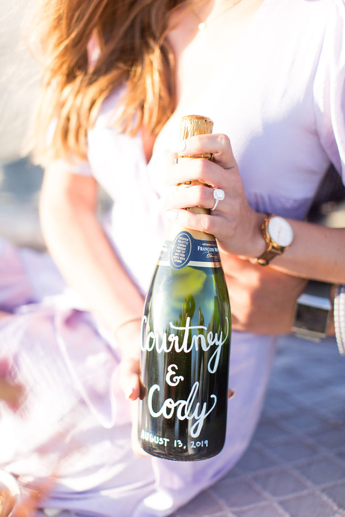
M 186 0 L 38 2 L 34 51 L 39 51 L 43 71 L 36 159 L 84 159 L 87 130 L 100 105 L 125 83 L 121 130 L 133 134 L 145 125 L 157 134 L 174 107 L 174 57 L 165 38 L 168 20 Z M 90 63 L 88 45 L 95 41 L 98 55 Z

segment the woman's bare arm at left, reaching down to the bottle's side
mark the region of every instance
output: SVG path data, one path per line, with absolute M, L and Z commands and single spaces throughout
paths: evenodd
M 52 167 L 44 174 L 40 216 L 44 238 L 63 276 L 112 332 L 123 354 L 123 388 L 137 398 L 143 298 L 96 217 L 97 183 Z M 126 323 L 128 322 L 128 323 Z

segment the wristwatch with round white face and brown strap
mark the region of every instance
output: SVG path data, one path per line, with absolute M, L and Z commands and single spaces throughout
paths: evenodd
M 281 255 L 293 240 L 293 230 L 286 219 L 280 216 L 267 215 L 261 226 L 262 236 L 266 241 L 265 251 L 257 257 L 261 266 L 267 266 L 269 261 Z

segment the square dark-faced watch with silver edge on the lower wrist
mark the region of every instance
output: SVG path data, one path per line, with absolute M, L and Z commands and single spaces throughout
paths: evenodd
M 329 299 L 331 284 L 309 280 L 297 298 L 292 331 L 299 338 L 320 341 L 326 337 L 332 303 Z

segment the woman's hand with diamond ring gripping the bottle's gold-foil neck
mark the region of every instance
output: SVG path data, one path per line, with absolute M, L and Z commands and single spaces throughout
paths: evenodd
M 191 230 L 215 235 L 219 248 L 234 255 L 259 256 L 265 249 L 260 232 L 263 216 L 248 204 L 230 141 L 223 134 L 192 136 L 185 142 L 181 155 L 212 153 L 213 161 L 181 160 L 168 172 L 167 216 Z M 197 180 L 203 185 L 183 184 Z M 176 188 L 177 185 L 181 185 Z M 222 189 L 223 201 L 210 214 L 194 214 L 187 207 L 211 209 L 215 204 L 213 189 Z

